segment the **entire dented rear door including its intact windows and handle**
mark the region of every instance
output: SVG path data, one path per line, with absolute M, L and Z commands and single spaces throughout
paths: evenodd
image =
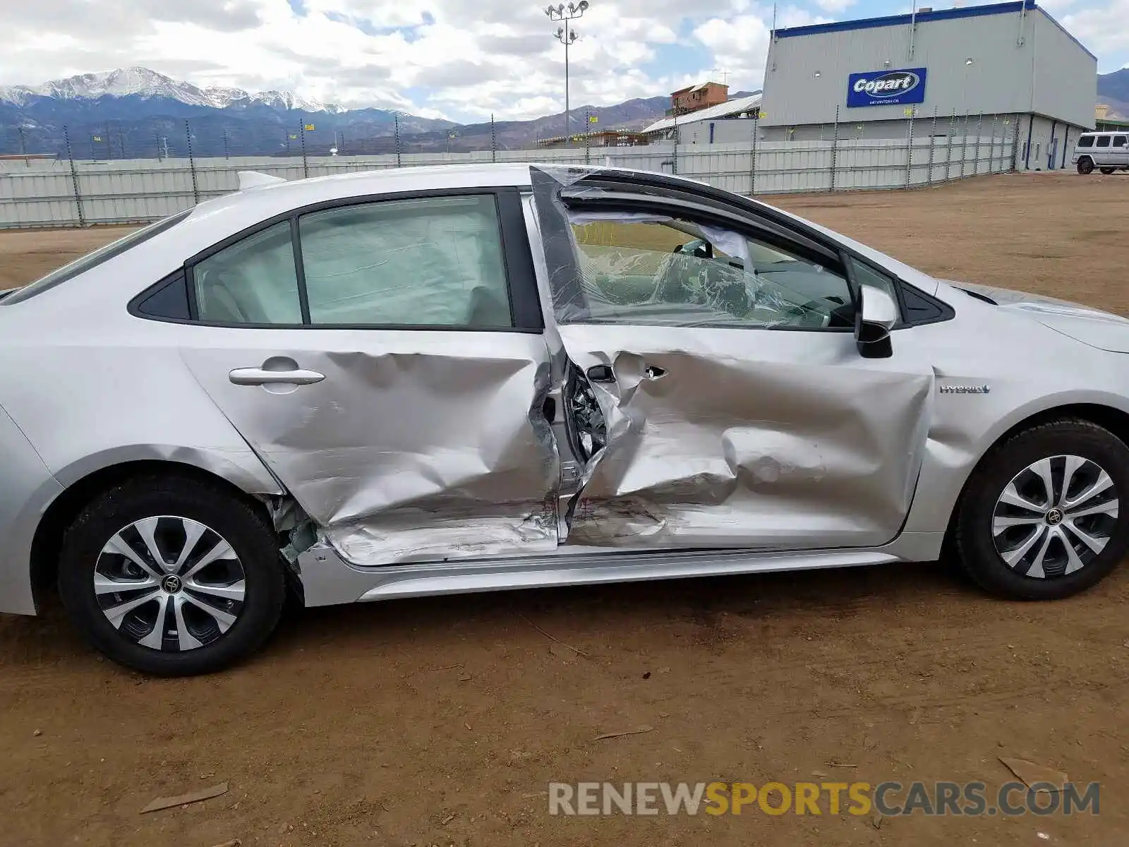
M 320 204 L 193 257 L 200 384 L 348 560 L 557 548 L 549 357 L 514 189 Z

